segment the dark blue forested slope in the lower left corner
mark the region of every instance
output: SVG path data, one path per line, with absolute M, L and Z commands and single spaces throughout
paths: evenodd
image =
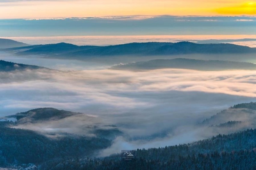
M 8 128 L 13 122 L 0 122 L 0 167 L 22 163 L 40 164 L 54 158 L 92 156 L 107 148 L 104 138 L 60 134 L 49 138 L 32 130 Z

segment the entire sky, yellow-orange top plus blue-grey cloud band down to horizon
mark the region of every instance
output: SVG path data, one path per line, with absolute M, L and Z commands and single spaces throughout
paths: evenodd
M 0 0 L 0 37 L 255 35 L 255 17 L 255 0 Z

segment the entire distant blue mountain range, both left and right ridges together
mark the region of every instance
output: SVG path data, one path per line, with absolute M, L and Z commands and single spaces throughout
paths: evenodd
M 20 50 L 20 51 L 18 51 Z M 252 54 L 256 48 L 234 44 L 196 44 L 192 42 L 145 42 L 110 46 L 77 46 L 67 43 L 9 48 L 17 55 L 46 55 L 53 58 L 85 59 L 103 56 L 162 56 L 178 54 Z M 18 51 L 18 52 L 17 52 Z

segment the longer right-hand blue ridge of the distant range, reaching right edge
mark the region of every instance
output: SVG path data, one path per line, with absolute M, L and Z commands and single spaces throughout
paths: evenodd
M 234 44 L 196 44 L 192 42 L 145 42 L 111 45 L 67 53 L 64 57 L 90 57 L 114 55 L 175 55 L 175 54 L 245 54 L 255 53 L 256 48 Z

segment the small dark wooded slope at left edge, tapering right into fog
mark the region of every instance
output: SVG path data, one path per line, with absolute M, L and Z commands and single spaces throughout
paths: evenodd
M 9 72 L 14 70 L 24 70 L 24 69 L 46 69 L 45 67 L 32 66 L 26 64 L 19 64 L 0 60 L 0 72 Z

